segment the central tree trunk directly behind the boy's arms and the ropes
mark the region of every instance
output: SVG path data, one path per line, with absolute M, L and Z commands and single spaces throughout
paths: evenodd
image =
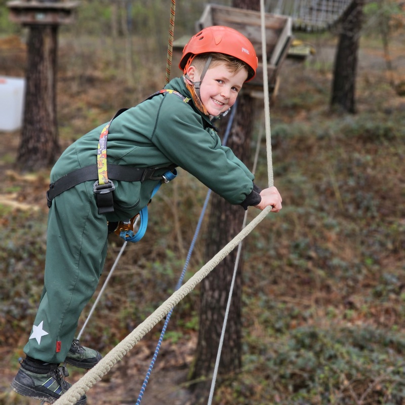
M 250 141 L 254 116 L 253 99 L 240 95 L 234 123 L 227 142 L 235 155 L 248 165 Z M 226 121 L 221 123 L 224 129 Z M 221 131 L 223 132 L 223 131 Z M 211 259 L 227 242 L 242 229 L 245 211 L 240 206 L 228 204 L 222 197 L 213 194 L 209 219 L 210 237 L 206 247 L 207 259 Z M 228 301 L 235 266 L 237 249 L 234 249 L 201 282 L 199 334 L 195 362 L 191 373 L 192 380 L 207 377 L 206 381 L 196 384 L 194 403 L 207 402 L 214 370 L 222 324 Z M 224 345 L 219 363 L 219 376 L 237 372 L 241 367 L 241 290 L 242 255 L 237 269 L 232 301 L 224 336 Z M 219 381 L 217 382 L 219 383 Z

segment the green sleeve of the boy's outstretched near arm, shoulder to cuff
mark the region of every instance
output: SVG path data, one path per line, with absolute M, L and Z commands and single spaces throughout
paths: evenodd
M 175 95 L 162 98 L 151 141 L 229 203 L 241 204 L 252 193 L 253 174 L 221 145 L 213 129 L 204 128 L 203 117 Z

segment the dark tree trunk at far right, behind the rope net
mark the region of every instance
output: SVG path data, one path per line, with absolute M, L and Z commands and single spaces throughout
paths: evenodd
M 364 0 L 354 0 L 343 15 L 335 57 L 331 106 L 350 113 L 356 112 L 355 82 L 363 4 Z

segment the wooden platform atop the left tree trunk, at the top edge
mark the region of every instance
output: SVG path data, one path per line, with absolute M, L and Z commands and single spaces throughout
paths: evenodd
M 79 3 L 74 1 L 40 2 L 14 0 L 7 3 L 10 20 L 22 25 L 71 24 Z

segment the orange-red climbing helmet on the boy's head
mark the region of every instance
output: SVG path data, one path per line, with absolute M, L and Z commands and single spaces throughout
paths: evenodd
M 196 55 L 211 52 L 232 56 L 250 66 L 254 74 L 249 73 L 246 82 L 255 77 L 257 56 L 252 43 L 239 31 L 222 25 L 206 27 L 192 36 L 183 49 L 179 68 L 185 73 Z

